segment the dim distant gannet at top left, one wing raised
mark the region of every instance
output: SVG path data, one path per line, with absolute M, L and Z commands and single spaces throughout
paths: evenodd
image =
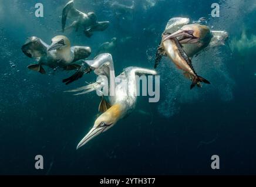
M 67 16 L 76 18 L 71 25 L 65 28 Z M 75 28 L 78 31 L 79 27 L 82 26 L 85 30 L 83 31 L 87 37 L 91 37 L 93 32 L 103 31 L 109 27 L 109 21 L 98 22 L 94 12 L 83 13 L 74 8 L 74 1 L 69 1 L 65 5 L 62 11 L 62 30 Z

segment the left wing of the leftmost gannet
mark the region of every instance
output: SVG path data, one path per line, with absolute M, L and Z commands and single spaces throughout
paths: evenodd
M 47 54 L 48 44 L 39 37 L 29 37 L 21 47 L 22 52 L 29 58 L 39 58 Z

